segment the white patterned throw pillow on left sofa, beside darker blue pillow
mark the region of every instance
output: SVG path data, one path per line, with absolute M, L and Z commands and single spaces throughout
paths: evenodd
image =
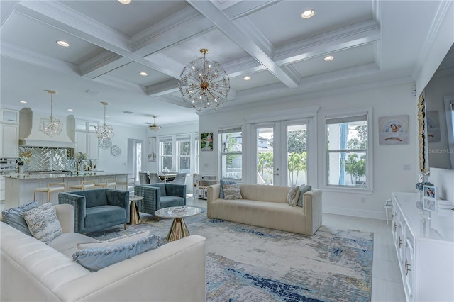
M 23 212 L 23 219 L 26 220 L 31 235 L 46 244 L 62 235 L 62 225 L 50 202 Z

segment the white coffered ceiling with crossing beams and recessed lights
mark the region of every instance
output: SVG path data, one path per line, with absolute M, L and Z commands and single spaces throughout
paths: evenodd
M 1 0 L 0 105 L 48 111 L 50 89 L 60 115 L 100 121 L 106 101 L 109 123 L 145 127 L 151 116 L 160 125 L 195 121 L 178 79 L 201 48 L 231 79 L 218 110 L 413 82 L 451 4 Z M 315 15 L 301 18 L 306 9 Z M 323 60 L 327 55 L 334 59 Z

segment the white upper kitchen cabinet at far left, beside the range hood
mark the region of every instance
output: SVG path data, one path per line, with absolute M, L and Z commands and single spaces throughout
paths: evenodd
M 17 158 L 19 156 L 18 111 L 0 109 L 0 157 Z

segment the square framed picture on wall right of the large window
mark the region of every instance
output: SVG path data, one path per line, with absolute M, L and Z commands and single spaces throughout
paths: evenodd
M 379 145 L 407 145 L 409 143 L 409 116 L 382 116 L 378 118 Z

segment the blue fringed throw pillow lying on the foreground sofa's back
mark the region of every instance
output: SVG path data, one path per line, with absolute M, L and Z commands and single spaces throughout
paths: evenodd
M 153 250 L 161 244 L 160 235 L 149 235 L 135 242 L 124 243 L 116 247 L 79 250 L 72 254 L 72 260 L 78 262 L 90 272 L 99 271 L 104 267 L 116 264 L 148 250 Z

